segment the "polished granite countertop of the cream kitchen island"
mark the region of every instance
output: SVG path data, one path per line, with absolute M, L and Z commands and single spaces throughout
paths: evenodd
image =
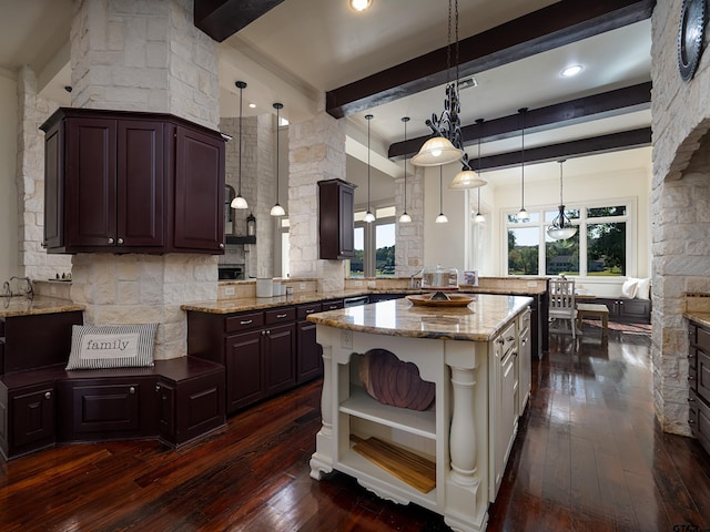
M 415 306 L 408 299 L 312 314 L 317 325 L 387 336 L 488 341 L 532 303 L 525 296 L 480 294 L 466 307 Z

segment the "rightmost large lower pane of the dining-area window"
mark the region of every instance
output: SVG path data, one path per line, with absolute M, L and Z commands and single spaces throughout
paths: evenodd
M 587 226 L 587 275 L 626 275 L 625 222 Z

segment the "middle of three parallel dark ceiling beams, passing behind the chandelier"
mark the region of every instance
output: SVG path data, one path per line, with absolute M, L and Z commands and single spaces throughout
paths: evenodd
M 650 109 L 651 82 L 607 91 L 568 102 L 532 109 L 525 115 L 525 131 L 537 133 L 557 127 L 591 122 L 632 111 Z M 520 114 L 511 114 L 484 122 L 481 126 L 469 124 L 462 127 L 464 146 L 478 142 L 493 142 L 518 136 L 521 130 Z M 429 136 L 408 139 L 389 146 L 387 155 L 393 161 L 415 155 Z

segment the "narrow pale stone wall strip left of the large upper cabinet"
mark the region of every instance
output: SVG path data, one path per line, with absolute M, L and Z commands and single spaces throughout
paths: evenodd
M 44 241 L 44 133 L 40 125 L 59 105 L 38 95 L 37 76 L 29 66 L 18 74 L 18 264 L 31 279 L 54 278 L 71 272 L 71 258 L 50 255 Z

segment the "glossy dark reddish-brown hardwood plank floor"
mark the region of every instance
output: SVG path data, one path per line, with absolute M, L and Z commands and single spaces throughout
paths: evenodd
M 534 362 L 490 531 L 710 531 L 710 458 L 660 432 L 648 336 L 551 338 Z M 575 347 L 577 345 L 577 347 Z M 67 446 L 0 462 L 0 530 L 445 531 L 308 459 L 320 381 L 229 420 L 197 443 Z

